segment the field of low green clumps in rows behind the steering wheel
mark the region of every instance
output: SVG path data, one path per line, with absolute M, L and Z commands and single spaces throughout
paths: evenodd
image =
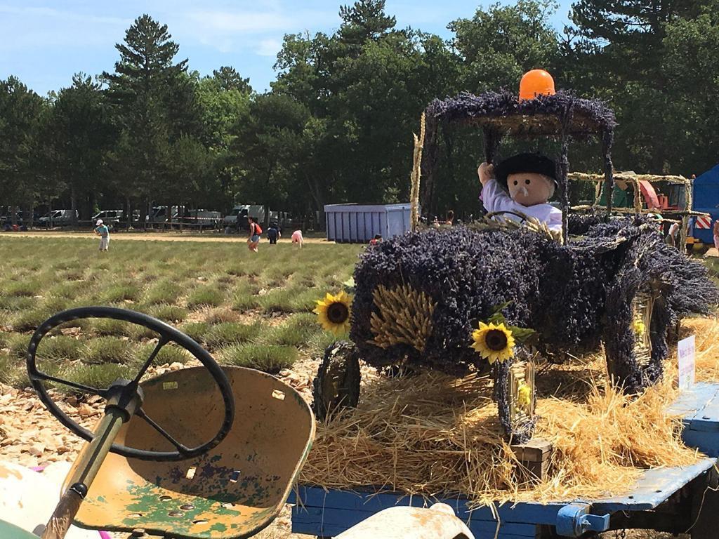
M 362 247 L 288 243 L 117 241 L 0 237 L 0 382 L 27 386 L 32 331 L 66 308 L 114 305 L 180 328 L 222 364 L 278 372 L 333 340 L 311 313 L 315 300 L 352 275 Z M 111 320 L 76 321 L 46 336 L 42 369 L 104 386 L 132 374 L 155 335 Z M 168 345 L 156 364 L 188 361 Z

